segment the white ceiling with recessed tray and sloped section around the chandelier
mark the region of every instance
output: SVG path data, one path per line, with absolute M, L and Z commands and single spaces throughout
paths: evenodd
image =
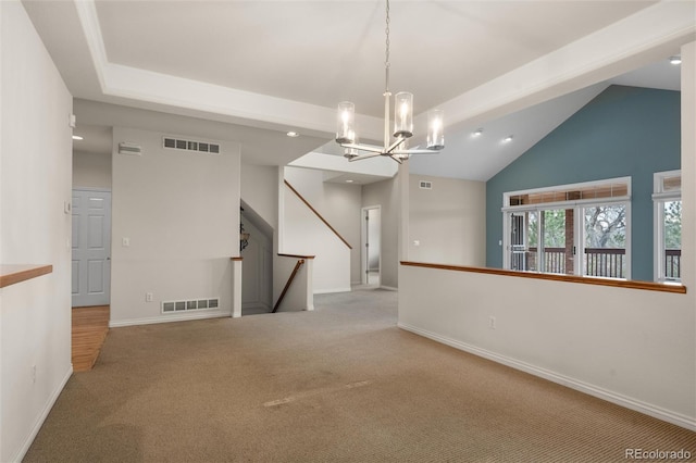
M 76 98 L 137 108 L 136 120 L 154 110 L 213 121 L 241 143 L 243 162 L 285 165 L 328 151 L 320 147 L 346 99 L 366 138 L 381 130 L 384 1 L 23 3 Z M 694 39 L 695 3 L 656 3 L 393 0 L 390 88 L 412 91 L 419 114 L 443 105 L 450 121 L 447 148 L 412 159 L 411 171 L 485 180 L 609 83 L 679 89 L 667 58 Z M 662 17 L 652 36 L 639 27 L 651 15 Z M 614 49 L 599 41 L 607 37 Z M 77 132 L 115 124 L 83 107 Z M 504 135 L 513 141 L 500 146 Z

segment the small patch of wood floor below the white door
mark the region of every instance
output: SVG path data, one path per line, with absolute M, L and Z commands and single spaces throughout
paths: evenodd
M 109 333 L 109 305 L 73 308 L 74 372 L 88 372 L 95 365 Z

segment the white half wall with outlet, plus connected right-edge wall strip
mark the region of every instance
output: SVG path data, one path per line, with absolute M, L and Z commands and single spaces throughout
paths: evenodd
M 682 47 L 685 295 L 401 266 L 399 326 L 696 430 L 695 105 L 692 42 Z

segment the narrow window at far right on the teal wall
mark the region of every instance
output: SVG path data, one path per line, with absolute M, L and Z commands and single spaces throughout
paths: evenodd
M 658 172 L 654 176 L 655 280 L 681 281 L 682 173 Z

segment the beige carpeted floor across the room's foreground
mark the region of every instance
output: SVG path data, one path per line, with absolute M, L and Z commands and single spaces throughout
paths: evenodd
M 696 461 L 696 433 L 397 328 L 396 297 L 111 329 L 24 461 Z

